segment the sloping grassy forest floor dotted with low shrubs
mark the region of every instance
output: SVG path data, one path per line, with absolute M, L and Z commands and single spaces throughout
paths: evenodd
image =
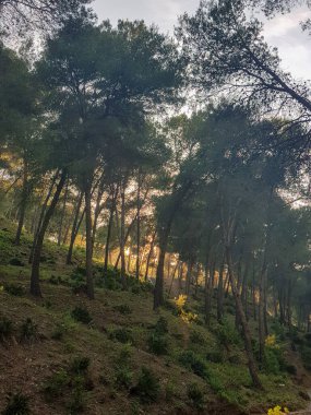
M 13 236 L 14 225 L 1 220 L 0 412 L 16 393 L 28 399 L 34 415 L 238 415 L 265 414 L 278 404 L 307 407 L 311 377 L 286 335 L 282 347 L 294 375 L 262 371 L 264 391 L 252 388 L 230 297 L 226 324 L 213 318 L 207 330 L 199 300 L 190 299 L 183 318 L 174 300 L 154 312 L 151 285 L 130 278 L 121 290 L 118 275 L 110 270 L 104 281 L 95 263 L 91 301 L 83 290 L 83 250 L 68 266 L 65 247 L 48 242 L 43 298 L 33 298 L 27 294 L 32 238 L 24 235 L 15 247 Z

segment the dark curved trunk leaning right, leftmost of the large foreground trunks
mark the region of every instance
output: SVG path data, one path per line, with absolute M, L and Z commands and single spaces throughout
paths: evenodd
M 31 294 L 36 297 L 41 297 L 41 290 L 40 290 L 40 284 L 39 284 L 39 269 L 40 269 L 40 257 L 41 257 L 41 251 L 43 251 L 44 238 L 45 238 L 45 234 L 49 225 L 50 218 L 59 201 L 59 197 L 64 186 L 65 178 L 67 178 L 67 171 L 62 170 L 60 180 L 56 188 L 56 192 L 51 200 L 51 204 L 49 205 L 45 214 L 45 217 L 43 220 L 43 223 L 41 223 L 41 226 L 36 239 L 36 245 L 35 245 L 34 256 L 33 256 L 33 264 L 32 264 L 32 275 L 31 275 Z

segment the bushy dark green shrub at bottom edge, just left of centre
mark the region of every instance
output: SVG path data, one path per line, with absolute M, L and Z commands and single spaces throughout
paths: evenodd
M 156 402 L 160 392 L 159 380 L 151 369 L 143 366 L 134 391 L 143 403 Z

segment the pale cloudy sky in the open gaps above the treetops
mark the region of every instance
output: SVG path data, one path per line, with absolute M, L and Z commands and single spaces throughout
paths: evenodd
M 144 20 L 155 23 L 164 33 L 174 33 L 178 16 L 184 12 L 193 14 L 200 0 L 95 0 L 93 8 L 99 21 L 109 19 Z M 290 14 L 277 15 L 265 22 L 265 38 L 276 46 L 283 69 L 299 79 L 311 80 L 311 37 L 302 33 L 299 22 L 311 17 L 311 11 L 297 8 Z

